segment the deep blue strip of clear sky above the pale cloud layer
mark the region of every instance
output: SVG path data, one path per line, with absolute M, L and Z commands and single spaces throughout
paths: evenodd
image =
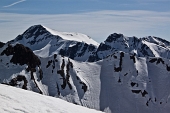
M 0 12 L 22 14 L 68 14 L 100 10 L 170 11 L 170 0 L 3 0 Z

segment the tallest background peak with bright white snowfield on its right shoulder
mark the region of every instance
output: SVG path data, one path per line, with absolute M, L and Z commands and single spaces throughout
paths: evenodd
M 23 44 L 40 57 L 61 54 L 80 61 L 88 60 L 98 46 L 87 35 L 57 32 L 42 25 L 31 26 L 8 43 Z

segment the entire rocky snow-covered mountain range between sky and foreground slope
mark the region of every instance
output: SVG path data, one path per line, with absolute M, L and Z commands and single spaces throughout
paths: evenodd
M 107 113 L 169 113 L 170 42 L 34 25 L 0 42 L 0 83 Z

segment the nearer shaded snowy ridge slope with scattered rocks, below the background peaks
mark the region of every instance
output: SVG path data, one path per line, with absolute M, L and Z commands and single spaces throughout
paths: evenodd
M 27 90 L 108 113 L 169 112 L 169 59 L 118 51 L 89 63 L 53 55 L 39 58 L 41 65 L 33 72 L 33 80 L 31 72 L 26 71 L 27 65 L 9 62 L 12 56 L 0 57 L 9 63 L 1 64 L 0 74 L 2 82 L 8 85 L 15 81 L 16 87 L 23 88 L 26 84 Z

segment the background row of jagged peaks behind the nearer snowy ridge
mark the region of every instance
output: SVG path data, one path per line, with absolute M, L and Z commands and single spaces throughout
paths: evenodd
M 8 43 L 23 44 L 40 57 L 60 54 L 77 61 L 98 61 L 116 51 L 124 51 L 139 57 L 170 58 L 170 42 L 158 37 L 137 38 L 113 33 L 104 43 L 98 45 L 87 35 L 57 32 L 42 25 L 31 26 Z

